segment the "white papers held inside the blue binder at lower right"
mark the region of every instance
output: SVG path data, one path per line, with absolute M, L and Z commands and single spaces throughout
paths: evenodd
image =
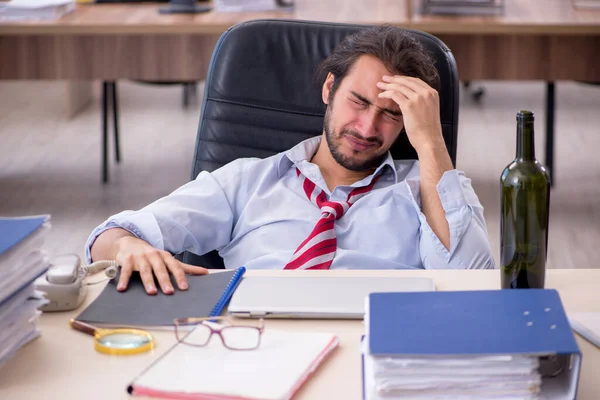
M 537 399 L 542 384 L 532 356 L 365 356 L 367 399 Z

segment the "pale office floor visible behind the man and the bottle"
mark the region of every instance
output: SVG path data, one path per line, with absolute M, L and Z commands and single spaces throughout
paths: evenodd
M 514 158 L 515 113 L 536 113 L 543 161 L 544 85 L 483 84 L 480 104 L 461 94 L 457 164 L 485 207 L 497 262 L 498 180 Z M 200 99 L 183 109 L 180 86 L 123 82 L 119 89 L 123 161 L 111 161 L 111 180 L 103 186 L 98 97 L 69 119 L 62 82 L 0 82 L 0 215 L 52 214 L 51 254 L 83 254 L 87 235 L 108 215 L 137 209 L 188 180 Z M 559 83 L 557 98 L 548 267 L 598 268 L 600 88 Z

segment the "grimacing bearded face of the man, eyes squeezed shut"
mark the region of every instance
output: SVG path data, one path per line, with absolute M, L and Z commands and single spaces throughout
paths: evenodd
M 392 72 L 377 58 L 361 56 L 330 99 L 333 75 L 323 85 L 327 104 L 324 130 L 335 161 L 352 171 L 378 167 L 402 127 L 402 114 L 390 99 L 380 99 L 377 82 Z

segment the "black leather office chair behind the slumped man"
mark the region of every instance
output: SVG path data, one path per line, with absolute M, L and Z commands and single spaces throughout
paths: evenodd
M 191 179 L 241 157 L 269 157 L 320 135 L 325 106 L 314 84 L 316 66 L 365 26 L 297 20 L 256 20 L 219 39 L 206 78 Z M 459 82 L 454 56 L 434 36 L 410 31 L 432 53 L 440 74 L 444 140 L 456 162 Z M 395 159 L 416 159 L 406 135 L 391 149 Z M 179 259 L 224 268 L 216 251 Z

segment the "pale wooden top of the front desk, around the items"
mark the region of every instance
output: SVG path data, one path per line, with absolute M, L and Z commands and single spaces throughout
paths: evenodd
M 250 271 L 251 275 L 328 276 L 427 276 L 437 290 L 476 290 L 499 288 L 499 270 L 492 271 Z M 93 280 L 93 278 L 92 278 Z M 567 312 L 600 311 L 598 296 L 600 269 L 549 270 L 547 287 L 558 289 Z M 100 285 L 101 286 L 101 285 Z M 93 293 L 86 303 L 100 291 Z M 148 364 L 163 354 L 175 340 L 172 332 L 154 332 L 157 349 L 129 357 L 96 353 L 89 336 L 68 327 L 76 312 L 44 314 L 39 327 L 42 336 L 21 349 L 0 368 L 2 399 L 126 399 L 126 385 Z M 298 399 L 361 398 L 359 340 L 364 333 L 361 321 L 267 321 L 267 329 L 334 332 L 340 347 L 316 371 L 298 393 Z M 583 352 L 579 400 L 595 400 L 600 393 L 600 350 L 577 336 Z

